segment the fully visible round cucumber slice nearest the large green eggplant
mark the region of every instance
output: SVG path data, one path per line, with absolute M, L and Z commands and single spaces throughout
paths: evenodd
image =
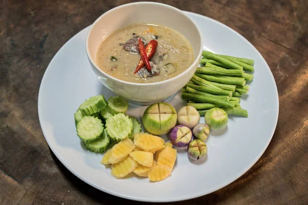
M 106 130 L 111 139 L 120 141 L 132 132 L 132 121 L 123 113 L 118 113 L 106 120 Z

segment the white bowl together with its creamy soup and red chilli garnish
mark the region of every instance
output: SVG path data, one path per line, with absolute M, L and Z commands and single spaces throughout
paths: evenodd
M 153 2 L 129 3 L 105 12 L 89 28 L 85 43 L 98 80 L 140 105 L 181 90 L 194 75 L 203 51 L 201 31 L 185 12 Z

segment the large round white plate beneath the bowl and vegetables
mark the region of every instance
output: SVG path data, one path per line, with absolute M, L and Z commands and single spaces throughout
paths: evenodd
M 116 179 L 101 165 L 103 154 L 87 151 L 76 135 L 74 112 L 88 97 L 112 96 L 89 65 L 85 40 L 89 27 L 72 37 L 51 60 L 38 94 L 38 116 L 49 147 L 63 165 L 89 185 L 106 193 L 139 201 L 166 202 L 199 197 L 227 186 L 261 157 L 278 119 L 278 92 L 264 58 L 243 36 L 211 18 L 186 12 L 201 29 L 204 49 L 255 60 L 254 80 L 241 107 L 249 116 L 230 116 L 227 128 L 211 132 L 204 161 L 189 160 L 178 150 L 174 170 L 167 179 L 149 182 L 136 176 Z M 210 29 L 209 29 L 210 28 Z M 180 92 L 166 100 L 177 111 L 185 105 Z M 130 105 L 128 115 L 141 121 L 146 106 Z M 201 122 L 204 118 L 201 117 Z M 167 139 L 167 138 L 165 138 Z

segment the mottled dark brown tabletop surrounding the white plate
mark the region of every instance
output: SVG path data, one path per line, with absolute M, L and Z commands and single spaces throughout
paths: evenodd
M 0 4 L 0 204 L 140 204 L 70 173 L 49 149 L 37 114 L 40 83 L 55 53 L 97 17 L 130 1 Z M 268 148 L 229 186 L 175 204 L 308 204 L 308 2 L 160 1 L 233 28 L 271 68 L 278 125 Z

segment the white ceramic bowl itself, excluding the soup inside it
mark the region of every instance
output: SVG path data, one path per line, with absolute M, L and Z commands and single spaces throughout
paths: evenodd
M 181 74 L 157 83 L 129 83 L 108 75 L 95 64 L 97 50 L 108 35 L 134 23 L 162 25 L 177 30 L 189 40 L 194 51 L 194 63 Z M 178 92 L 194 75 L 202 50 L 202 34 L 190 17 L 175 7 L 151 2 L 125 4 L 107 11 L 91 25 L 86 38 L 87 56 L 101 83 L 115 94 L 141 105 L 164 100 Z

